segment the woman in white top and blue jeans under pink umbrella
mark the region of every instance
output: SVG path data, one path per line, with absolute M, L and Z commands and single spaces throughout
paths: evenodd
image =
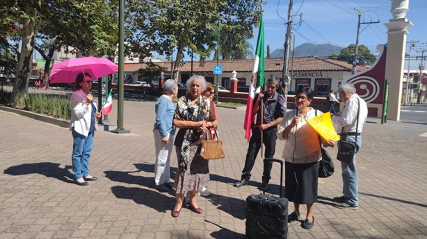
M 72 131 L 72 171 L 74 183 L 86 186 L 88 182 L 95 181 L 97 177 L 89 175 L 89 159 L 93 148 L 93 136 L 97 128 L 97 105 L 90 94 L 92 77 L 88 73 L 79 73 L 76 77 L 76 89 L 71 95 L 71 120 Z

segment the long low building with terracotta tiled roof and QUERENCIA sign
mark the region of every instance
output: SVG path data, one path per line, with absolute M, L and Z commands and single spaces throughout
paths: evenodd
M 170 78 L 170 62 L 156 62 L 159 67 L 164 67 L 166 72 L 164 78 Z M 219 64 L 223 67 L 221 75 L 213 75 L 213 66 L 216 60 L 206 61 L 203 67 L 200 62 L 184 62 L 179 69 L 179 83 L 185 83 L 192 74 L 204 76 L 208 82 L 218 83 L 230 89 L 230 79 L 233 71 L 236 72 L 237 89 L 240 92 L 247 92 L 250 85 L 253 59 L 245 60 L 221 60 Z M 124 74 L 131 76 L 136 81 L 140 79 L 138 70 L 145 68 L 145 64 L 125 64 Z M 300 86 L 311 87 L 315 96 L 327 96 L 330 89 L 337 89 L 342 82 L 351 77 L 351 64 L 338 60 L 327 59 L 323 57 L 293 57 L 289 61 L 289 71 L 291 73 L 291 83 L 288 86 L 289 91 L 296 91 Z M 266 58 L 264 62 L 264 76 L 267 79 L 277 76 L 282 78 L 283 58 Z M 357 71 L 366 69 L 366 67 L 357 67 Z M 160 78 L 160 76 L 159 76 Z M 155 79 L 153 79 L 155 80 Z M 154 84 L 156 82 L 153 82 Z M 291 93 L 291 92 L 290 92 Z

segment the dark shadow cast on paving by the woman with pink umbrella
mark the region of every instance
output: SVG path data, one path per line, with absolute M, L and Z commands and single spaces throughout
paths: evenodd
M 5 174 L 18 176 L 18 175 L 29 175 L 33 173 L 38 173 L 40 175 L 45 175 L 45 177 L 51 177 L 58 179 L 66 183 L 74 183 L 74 175 L 70 172 L 72 166 L 65 166 L 65 168 L 60 168 L 60 163 L 24 163 L 17 166 L 11 166 L 4 170 Z

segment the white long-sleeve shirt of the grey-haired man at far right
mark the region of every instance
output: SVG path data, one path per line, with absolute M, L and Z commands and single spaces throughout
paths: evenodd
M 362 133 L 364 123 L 368 117 L 368 107 L 366 102 L 357 96 L 357 94 L 353 94 L 353 96 L 348 98 L 346 105 L 344 106 L 344 111 L 340 116 L 332 116 L 332 123 L 338 133 L 341 132 L 342 127 L 344 127 L 344 133 L 356 133 L 357 98 L 359 98 L 360 102 L 359 125 L 357 126 L 357 133 Z

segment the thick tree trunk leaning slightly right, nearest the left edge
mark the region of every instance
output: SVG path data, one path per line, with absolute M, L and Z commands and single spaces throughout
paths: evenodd
M 22 47 L 21 53 L 19 53 L 17 76 L 13 84 L 13 95 L 21 91 L 25 93 L 28 92 L 31 68 L 33 66 L 32 60 L 35 36 L 35 24 L 33 19 L 35 18 L 35 10 L 31 10 L 31 12 L 28 13 L 30 17 L 24 19 L 22 23 Z

